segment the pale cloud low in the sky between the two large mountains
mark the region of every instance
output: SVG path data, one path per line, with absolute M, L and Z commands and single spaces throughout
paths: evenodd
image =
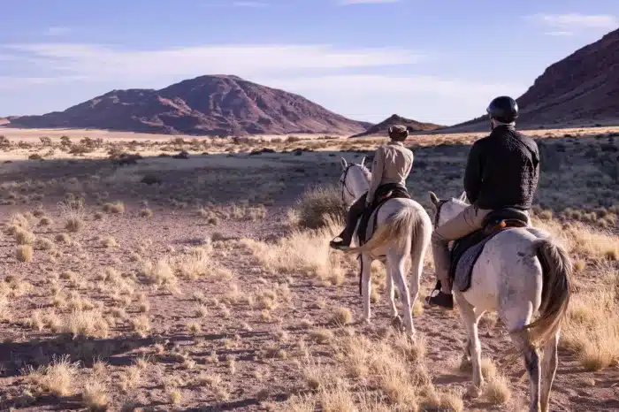
M 303 95 L 315 102 L 328 102 L 328 109 L 348 118 L 379 122 L 398 113 L 405 118 L 455 125 L 484 114 L 497 95 L 521 95 L 526 86 L 493 84 L 469 79 L 434 76 L 386 76 L 342 74 L 290 79 L 258 78 L 265 85 Z M 453 105 L 453 113 L 437 107 Z M 437 116 L 437 113 L 440 113 Z

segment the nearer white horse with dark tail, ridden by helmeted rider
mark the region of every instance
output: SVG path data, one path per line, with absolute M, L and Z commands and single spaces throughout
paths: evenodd
M 459 199 L 440 200 L 429 192 L 437 225 L 455 217 L 469 204 L 466 193 Z M 481 347 L 478 320 L 496 311 L 508 328 L 517 354 L 523 356 L 531 385 L 531 412 L 546 412 L 557 369 L 557 345 L 561 323 L 568 309 L 572 263 L 550 234 L 531 227 L 507 227 L 485 244 L 471 271 L 470 287 L 454 297 L 468 332 L 462 366 L 470 366 L 470 394 L 481 394 Z M 531 317 L 539 317 L 531 323 Z M 539 350 L 543 351 L 540 370 Z M 541 378 L 541 389 L 540 389 Z

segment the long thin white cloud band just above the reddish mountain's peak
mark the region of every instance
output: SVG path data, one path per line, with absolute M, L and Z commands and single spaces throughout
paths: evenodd
M 170 81 L 208 73 L 255 76 L 307 70 L 413 65 L 424 53 L 400 48 L 337 49 L 326 45 L 205 45 L 165 50 L 118 50 L 94 44 L 34 43 L 4 46 L 39 62 L 46 76 L 92 80 Z M 4 52 L 0 47 L 0 53 Z M 44 62 L 45 65 L 41 65 Z

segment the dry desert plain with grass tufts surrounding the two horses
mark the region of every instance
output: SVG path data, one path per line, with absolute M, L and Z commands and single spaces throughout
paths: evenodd
M 619 127 L 524 133 L 542 156 L 533 225 L 574 263 L 551 410 L 619 410 Z M 414 342 L 391 324 L 378 262 L 359 322 L 358 263 L 328 241 L 340 157 L 385 137 L 0 135 L 0 409 L 528 410 L 493 313 L 484 393 L 468 395 L 458 311 L 422 303 L 432 253 Z M 462 193 L 483 135 L 409 136 L 409 191 L 429 213 L 429 190 Z

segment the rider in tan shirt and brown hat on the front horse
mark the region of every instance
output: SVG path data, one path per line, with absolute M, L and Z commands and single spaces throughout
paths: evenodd
M 406 126 L 391 126 L 388 133 L 391 141 L 374 152 L 370 188 L 350 206 L 346 227 L 338 236 L 341 240 L 332 240 L 330 244 L 332 248 L 350 246 L 359 217 L 377 198 L 394 188 L 408 193 L 406 179 L 413 165 L 413 152 L 405 148 L 402 141 L 409 136 L 409 130 Z

